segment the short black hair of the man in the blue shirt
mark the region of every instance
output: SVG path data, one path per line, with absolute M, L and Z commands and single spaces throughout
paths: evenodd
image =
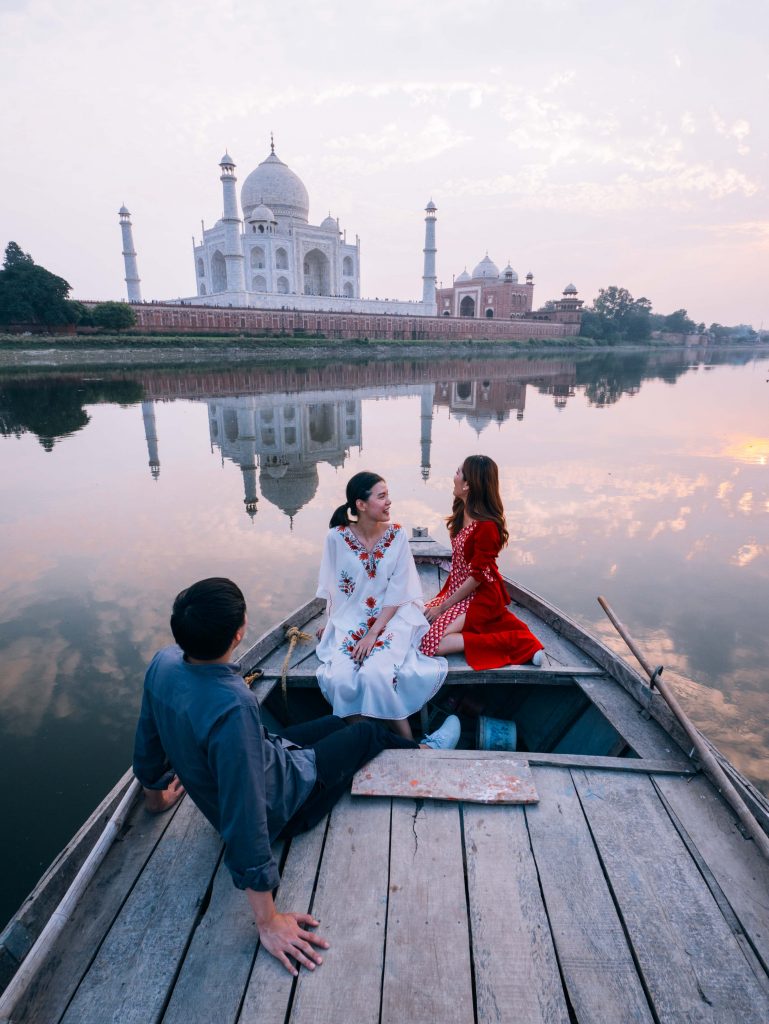
M 200 580 L 176 595 L 171 632 L 185 654 L 215 662 L 246 621 L 246 599 L 231 580 Z

